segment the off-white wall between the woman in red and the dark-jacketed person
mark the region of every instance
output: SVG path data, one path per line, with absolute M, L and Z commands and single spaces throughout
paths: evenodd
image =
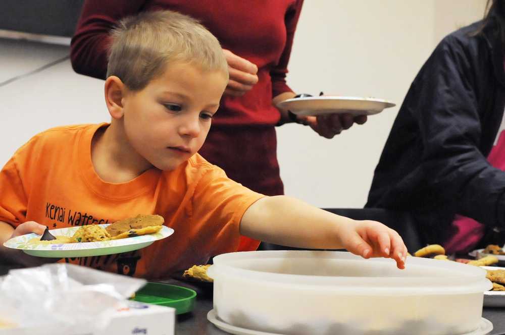
M 395 102 L 333 139 L 278 129 L 286 194 L 320 207 L 362 207 L 398 108 L 439 40 L 482 18 L 485 0 L 310 0 L 302 9 L 288 82 L 296 92 Z

